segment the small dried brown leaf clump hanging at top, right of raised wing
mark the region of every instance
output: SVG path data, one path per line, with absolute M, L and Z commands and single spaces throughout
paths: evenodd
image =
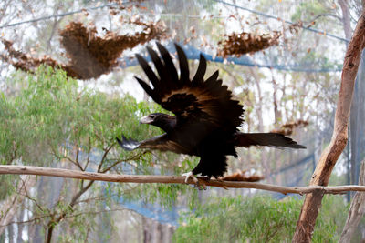
M 278 45 L 278 39 L 281 32 L 274 31 L 272 34 L 256 35 L 242 32 L 241 34 L 233 33 L 224 35 L 223 41 L 218 42 L 217 56 L 242 56 L 247 53 L 262 51 L 269 46 Z

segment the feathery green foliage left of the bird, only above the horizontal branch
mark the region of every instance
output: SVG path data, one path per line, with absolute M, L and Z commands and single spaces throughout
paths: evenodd
M 3 164 L 21 158 L 27 165 L 46 166 L 71 156 L 74 146 L 82 152 L 96 149 L 93 152 L 98 155 L 114 145 L 115 137 L 121 134 L 144 139 L 161 133 L 138 123 L 140 116 L 156 107 L 137 103 L 131 96 L 110 97 L 87 88 L 79 91 L 76 80 L 45 66 L 35 76 L 29 75 L 26 82 L 18 77 L 22 78 L 15 76 L 14 83 L 26 86 L 18 96 L 0 96 Z M 120 151 L 120 156 L 127 155 Z M 106 159 L 104 166 L 110 162 Z

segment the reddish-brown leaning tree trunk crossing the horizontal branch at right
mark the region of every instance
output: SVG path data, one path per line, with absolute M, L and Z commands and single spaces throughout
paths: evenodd
M 349 110 L 355 86 L 355 77 L 358 73 L 361 51 L 364 45 L 365 12 L 363 10 L 358 25 L 349 42 L 343 64 L 333 135 L 328 147 L 326 147 L 319 158 L 318 165 L 310 181 L 310 186 L 328 185 L 328 179 L 332 169 L 335 167 L 340 154 L 346 147 L 348 141 Z M 306 196 L 292 242 L 311 241 L 322 198 L 323 192 L 321 191 Z

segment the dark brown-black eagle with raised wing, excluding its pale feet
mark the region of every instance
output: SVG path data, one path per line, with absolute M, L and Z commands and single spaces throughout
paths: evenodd
M 305 148 L 289 137 L 276 133 L 246 134 L 237 130 L 243 122 L 243 106 L 232 98 L 232 92 L 218 79 L 218 71 L 203 79 L 206 60 L 200 56 L 198 69 L 190 79 L 188 60 L 183 49 L 175 45 L 180 63 L 180 77 L 169 52 L 159 43 L 162 58 L 147 47 L 158 76 L 140 55 L 137 56 L 151 86 L 136 77 L 151 98 L 175 116 L 162 113 L 151 114 L 141 123 L 162 128 L 164 134 L 137 142 L 117 138 L 120 147 L 159 149 L 178 154 L 201 157 L 193 174 L 222 177 L 226 171 L 226 156 L 236 157 L 235 147 L 271 146 Z

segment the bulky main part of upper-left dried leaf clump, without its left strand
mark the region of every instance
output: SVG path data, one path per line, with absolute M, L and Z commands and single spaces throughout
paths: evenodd
M 166 36 L 166 29 L 160 22 L 146 24 L 134 21 L 131 24 L 143 25 L 143 30 L 135 35 L 108 32 L 104 37 L 99 37 L 95 27 L 88 29 L 75 22 L 66 26 L 59 35 L 70 59 L 68 66 L 71 75 L 89 79 L 107 74 L 118 65 L 117 58 L 124 50 Z

